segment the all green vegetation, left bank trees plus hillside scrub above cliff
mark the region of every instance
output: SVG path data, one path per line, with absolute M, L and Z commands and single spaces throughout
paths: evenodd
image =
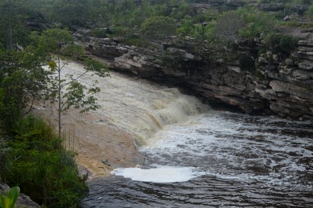
M 278 12 L 262 11 L 246 2 L 239 8 L 221 3 L 218 8 L 199 10 L 190 6 L 197 3 L 192 0 L 1 1 L 1 180 L 11 186 L 19 185 L 23 193 L 48 207 L 75 207 L 86 190 L 85 178 L 78 177 L 75 154 L 60 146 L 60 132 L 56 135 L 44 120 L 29 115 L 32 103 L 42 99 L 58 99 L 59 103 L 61 98 L 69 99 L 67 103 L 71 105 L 59 107 L 59 114 L 73 106 L 88 105 L 83 110 L 99 107 L 93 96 L 85 96 L 84 86 L 75 78 L 64 97 L 60 95 L 60 86 L 67 83 L 60 79 L 60 73 L 58 82 L 51 79 L 53 73 L 61 71 L 60 58 L 84 59 L 83 49 L 74 44 L 65 28 L 90 28 L 95 37 L 119 37 L 126 44 L 160 49 L 161 59 L 167 64 L 177 62 L 176 57 L 163 51 L 163 43 L 174 35 L 183 44 L 192 41 L 194 52 L 205 58 L 239 60 L 242 69 L 251 71 L 255 69 L 251 57 L 228 54 L 234 42 L 250 43 L 255 37 L 262 37 L 265 48 L 260 54 L 271 49 L 289 55 L 296 49 L 298 38 L 278 33 L 279 29 L 313 26 L 312 0 L 259 1 L 282 3 L 283 9 Z M 299 10 L 300 4 L 307 10 Z M 49 65 L 50 71 L 44 65 Z M 85 66 L 99 76 L 107 75 L 107 68 L 93 60 L 85 60 Z M 90 94 L 98 91 L 91 89 Z

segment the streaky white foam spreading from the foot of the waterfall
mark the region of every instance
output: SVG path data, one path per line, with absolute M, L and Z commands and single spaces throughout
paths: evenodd
M 211 111 L 189 123 L 167 125 L 140 150 L 155 164 L 196 166 L 206 175 L 294 185 L 299 174 L 310 170 L 310 164 L 301 158 L 313 158 L 312 151 L 305 148 L 312 138 L 282 131 L 296 132 L 306 123 L 286 127 L 288 123 L 282 119 L 271 118 L 271 125 L 270 119 L 263 120 Z

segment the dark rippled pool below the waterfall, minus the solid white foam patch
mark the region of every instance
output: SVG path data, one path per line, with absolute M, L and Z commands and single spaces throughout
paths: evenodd
M 313 207 L 312 130 L 275 117 L 202 114 L 162 130 L 141 152 L 144 168 L 192 166 L 203 175 L 174 183 L 98 178 L 83 207 Z

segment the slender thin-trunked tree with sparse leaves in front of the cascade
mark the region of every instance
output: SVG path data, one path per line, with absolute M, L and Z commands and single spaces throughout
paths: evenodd
M 99 108 L 94 96 L 100 91 L 99 87 L 96 87 L 96 83 L 94 83 L 87 89 L 78 79 L 87 72 L 92 72 L 100 77 L 108 76 L 108 67 L 101 62 L 87 58 L 84 61 L 85 72 L 76 77 L 70 75 L 65 78 L 66 74 L 63 74 L 65 66 L 74 58 L 83 57 L 83 47 L 74 44 L 71 33 L 67 29 L 52 28 L 44 31 L 41 35 L 34 34 L 33 41 L 42 53 L 53 54 L 50 56 L 51 61 L 48 62 L 49 69 L 53 73 L 50 79 L 50 99 L 51 101 L 58 100 L 58 136 L 61 137 L 62 112 L 69 110 L 70 107 L 81 109 L 81 113 Z

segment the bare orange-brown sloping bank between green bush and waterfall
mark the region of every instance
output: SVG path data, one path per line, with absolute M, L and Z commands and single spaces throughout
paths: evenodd
M 37 107 L 35 113 L 56 125 L 51 107 Z M 80 171 L 90 178 L 107 176 L 113 168 L 133 167 L 144 161 L 131 135 L 94 112 L 69 110 L 62 115 L 62 127 L 68 137 L 67 148 L 78 154 Z

